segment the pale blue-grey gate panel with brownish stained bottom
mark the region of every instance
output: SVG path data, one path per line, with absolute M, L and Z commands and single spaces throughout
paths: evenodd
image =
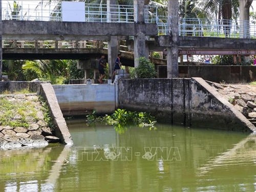
M 114 84 L 68 84 L 54 85 L 63 115 L 85 115 L 93 110 L 97 113 L 115 111 Z

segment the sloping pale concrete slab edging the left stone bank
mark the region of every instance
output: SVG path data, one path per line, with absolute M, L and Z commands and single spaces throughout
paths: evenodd
M 73 145 L 73 140 L 69 133 L 69 129 L 61 110 L 59 108 L 59 104 L 57 98 L 55 96 L 55 92 L 53 90 L 52 84 L 50 83 L 42 83 L 40 95 L 44 97 L 47 101 L 47 104 L 50 109 L 50 114 L 54 120 L 54 124 L 56 125 L 55 135 L 60 138 L 61 142 L 67 145 Z

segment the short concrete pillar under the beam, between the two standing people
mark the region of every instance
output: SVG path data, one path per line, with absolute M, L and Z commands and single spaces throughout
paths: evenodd
M 110 40 L 108 41 L 109 77 L 112 77 L 117 54 L 118 54 L 117 36 L 111 36 Z

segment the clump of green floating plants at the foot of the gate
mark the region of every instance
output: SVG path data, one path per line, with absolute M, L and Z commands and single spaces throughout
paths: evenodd
M 114 125 L 114 129 L 119 133 L 124 133 L 128 127 L 136 125 L 139 127 L 148 127 L 149 130 L 156 130 L 157 123 L 155 117 L 146 112 L 131 112 L 124 109 L 117 109 L 112 115 L 96 116 L 96 112 L 87 115 L 88 125 L 93 123 L 105 123 Z

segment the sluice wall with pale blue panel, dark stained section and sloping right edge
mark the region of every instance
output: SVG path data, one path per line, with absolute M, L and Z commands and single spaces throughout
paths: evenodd
M 53 86 L 63 115 L 122 108 L 150 112 L 159 122 L 228 131 L 255 126 L 202 78 L 120 79 L 118 84 Z

